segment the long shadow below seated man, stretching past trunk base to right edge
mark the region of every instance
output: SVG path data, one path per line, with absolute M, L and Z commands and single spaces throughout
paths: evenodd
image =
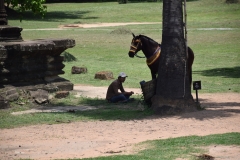
M 98 109 L 76 111 L 74 116 L 83 116 L 95 120 L 144 120 L 161 119 L 177 116 L 179 119 L 193 118 L 196 120 L 231 117 L 233 113 L 240 114 L 240 103 L 238 102 L 207 102 L 207 99 L 199 99 L 201 106 L 205 109 L 195 112 L 179 113 L 174 115 L 155 115 L 153 110 L 147 106 L 140 105 L 139 101 L 128 104 L 111 104 L 104 99 L 87 99 L 85 105 L 96 106 Z M 204 102 L 205 101 L 205 102 Z M 76 106 L 81 107 L 81 106 Z M 70 113 L 71 114 L 71 113 Z

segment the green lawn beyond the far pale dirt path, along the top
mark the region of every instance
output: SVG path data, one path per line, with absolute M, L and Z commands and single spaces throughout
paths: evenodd
M 161 22 L 162 2 L 156 3 L 51 3 L 46 4 L 48 13 L 39 19 L 29 13 L 19 22 L 16 16 L 9 17 L 10 25 L 23 28 L 55 28 L 62 24 L 99 22 Z M 188 26 L 239 27 L 239 3 L 226 4 L 225 0 L 198 0 L 187 2 Z M 230 17 L 229 17 L 230 16 Z M 34 23 L 33 23 L 34 21 Z

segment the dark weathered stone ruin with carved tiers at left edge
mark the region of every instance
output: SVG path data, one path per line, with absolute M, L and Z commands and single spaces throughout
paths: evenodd
M 4 5 L 0 4 L 1 11 L 2 7 Z M 64 58 L 60 54 L 67 48 L 74 47 L 75 40 L 24 41 L 21 37 L 22 28 L 6 25 L 6 17 L 1 13 L 0 108 L 6 108 L 8 101 L 18 99 L 22 90 L 42 89 L 48 92 L 73 90 L 73 83 L 59 75 L 64 74 L 62 70 Z

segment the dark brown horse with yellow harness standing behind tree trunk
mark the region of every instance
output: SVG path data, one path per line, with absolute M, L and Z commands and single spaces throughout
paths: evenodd
M 152 79 L 156 79 L 158 74 L 159 57 L 161 53 L 161 44 L 152 40 L 151 38 L 144 35 L 133 35 L 130 50 L 128 52 L 129 57 L 134 56 L 139 58 L 146 58 L 146 63 L 151 70 Z M 140 57 L 137 52 L 142 50 L 145 57 Z M 189 82 L 192 83 L 192 64 L 194 60 L 194 53 L 190 47 L 188 47 L 188 71 L 189 71 Z

